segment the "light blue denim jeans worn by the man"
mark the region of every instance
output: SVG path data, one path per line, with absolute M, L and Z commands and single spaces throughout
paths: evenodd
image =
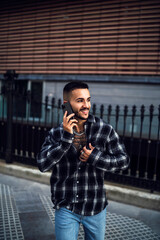
M 55 211 L 56 240 L 77 240 L 82 223 L 86 240 L 104 240 L 106 208 L 94 216 L 81 216 L 66 208 Z

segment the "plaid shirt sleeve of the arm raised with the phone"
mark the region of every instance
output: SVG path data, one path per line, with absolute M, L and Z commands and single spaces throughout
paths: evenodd
M 40 152 L 37 154 L 37 164 L 41 172 L 50 170 L 58 163 L 72 144 L 73 134 L 63 131 L 63 136 L 60 141 L 56 140 L 55 135 L 56 133 L 54 133 L 54 129 L 52 129 L 48 133 Z

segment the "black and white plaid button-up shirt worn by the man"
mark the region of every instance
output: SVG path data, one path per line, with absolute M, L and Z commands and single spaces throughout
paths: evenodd
M 102 119 L 89 116 L 85 125 L 87 146 L 94 146 L 86 163 L 79 160 L 74 135 L 63 124 L 51 129 L 37 155 L 40 171 L 52 169 L 51 193 L 54 207 L 66 207 L 77 214 L 91 216 L 107 205 L 104 174 L 124 170 L 129 158 L 118 134 Z

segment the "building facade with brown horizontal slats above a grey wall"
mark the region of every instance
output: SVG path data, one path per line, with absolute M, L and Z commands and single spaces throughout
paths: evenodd
M 38 101 L 82 80 L 97 104 L 158 106 L 158 0 L 9 0 L 0 13 L 1 85 L 14 69 Z

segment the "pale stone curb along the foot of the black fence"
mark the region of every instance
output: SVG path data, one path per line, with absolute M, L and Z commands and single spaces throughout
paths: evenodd
M 0 173 L 50 184 L 50 172 L 41 173 L 35 167 L 22 164 L 6 164 L 4 160 L 0 160 Z M 160 211 L 160 194 L 119 187 L 108 182 L 105 182 L 105 188 L 109 200 Z

